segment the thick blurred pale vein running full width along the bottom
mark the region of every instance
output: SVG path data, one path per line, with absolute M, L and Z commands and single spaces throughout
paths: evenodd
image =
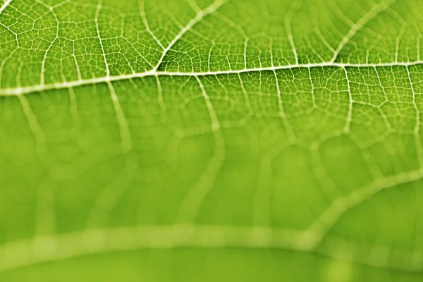
M 295 247 L 293 240 L 298 231 L 283 228 L 266 228 L 261 226 L 210 226 L 210 225 L 169 225 L 169 226 L 130 226 L 96 228 L 66 233 L 61 235 L 45 235 L 41 238 L 17 240 L 0 245 L 0 273 L 13 269 L 58 262 L 85 255 L 101 254 L 116 251 L 132 250 L 168 250 L 176 247 L 276 249 L 303 251 Z M 42 243 L 35 248 L 37 243 Z M 374 259 L 360 258 L 351 255 L 350 247 L 357 249 L 356 243 L 333 238 L 323 250 L 313 250 L 326 257 L 342 261 L 364 264 L 381 269 L 397 269 L 407 272 L 422 271 L 422 256 L 418 252 L 400 251 L 399 257 L 406 258 L 403 264 L 379 264 Z M 45 247 L 56 245 L 53 252 L 45 252 Z M 44 248 L 42 248 L 44 247 Z M 397 249 L 396 249 L 397 250 Z M 338 252 L 336 252 L 338 251 Z M 397 252 L 393 252 L 396 254 Z M 354 252 L 353 252 L 354 254 Z M 386 256 L 391 257 L 389 252 Z M 382 259 L 386 258 L 383 257 Z M 408 262 L 407 258 L 411 261 Z M 389 261 L 387 261 L 389 262 Z

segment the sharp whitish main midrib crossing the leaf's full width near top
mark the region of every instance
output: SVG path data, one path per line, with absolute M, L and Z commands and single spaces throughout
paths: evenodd
M 377 67 L 392 67 L 392 66 L 415 66 L 423 64 L 423 61 L 413 61 L 413 62 L 399 62 L 399 63 L 305 63 L 305 64 L 295 64 L 295 65 L 286 65 L 286 66 L 270 66 L 266 68 L 248 68 L 241 70 L 229 70 L 229 71 L 209 71 L 203 73 L 178 73 L 178 72 L 168 72 L 168 71 L 146 71 L 144 73 L 130 73 L 125 75 L 111 75 L 109 77 L 102 78 L 91 78 L 87 80 L 75 80 L 70 82 L 56 82 L 45 85 L 32 85 L 16 88 L 4 88 L 0 89 L 0 96 L 14 96 L 20 94 L 28 94 L 32 92 L 41 92 L 46 90 L 54 89 L 63 89 L 68 87 L 78 87 L 82 85 L 90 85 L 102 82 L 112 82 L 118 80 L 130 80 L 131 78 L 145 78 L 147 76 L 154 75 L 175 75 L 175 76 L 204 76 L 204 75 L 230 75 L 233 73 L 247 73 L 253 71 L 278 71 L 286 70 L 292 68 L 319 68 L 319 67 L 338 67 L 338 68 L 377 68 Z

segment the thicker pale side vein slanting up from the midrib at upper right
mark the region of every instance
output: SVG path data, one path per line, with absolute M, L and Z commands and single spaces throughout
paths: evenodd
M 334 62 L 339 55 L 339 52 L 345 47 L 345 45 L 350 42 L 350 39 L 353 38 L 353 36 L 364 27 L 364 25 L 367 25 L 369 21 L 373 20 L 378 16 L 381 12 L 385 11 L 386 8 L 389 8 L 393 3 L 395 3 L 396 0 L 390 0 L 387 4 L 381 3 L 376 4 L 368 13 L 365 13 L 360 20 L 357 21 L 357 23 L 353 24 L 351 29 L 347 32 L 345 37 L 343 37 L 341 43 L 338 45 L 338 47 L 335 50 L 335 53 L 333 54 L 333 57 L 331 59 L 331 62 Z

